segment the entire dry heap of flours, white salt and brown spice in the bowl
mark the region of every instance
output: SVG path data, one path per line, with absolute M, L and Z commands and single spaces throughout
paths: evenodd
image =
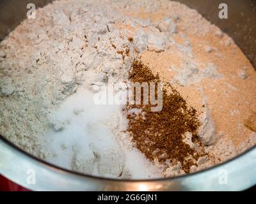
M 163 82 L 163 110 L 95 104 L 129 81 Z M 173 177 L 256 144 L 255 82 L 234 41 L 177 1 L 54 1 L 0 42 L 0 134 L 72 171 Z

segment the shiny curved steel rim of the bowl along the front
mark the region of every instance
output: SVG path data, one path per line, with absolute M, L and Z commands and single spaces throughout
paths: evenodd
M 128 181 L 86 177 L 60 170 L 10 147 L 4 140 L 0 140 L 0 147 L 0 173 L 36 191 L 238 191 L 256 184 L 255 148 L 228 163 L 193 175 Z M 35 184 L 29 185 L 28 170 L 35 171 Z

